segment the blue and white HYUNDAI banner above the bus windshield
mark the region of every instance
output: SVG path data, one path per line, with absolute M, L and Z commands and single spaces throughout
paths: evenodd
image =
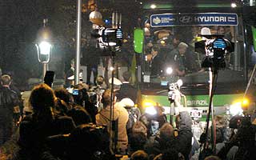
M 161 26 L 238 26 L 238 14 L 200 13 L 200 14 L 152 14 L 152 27 Z

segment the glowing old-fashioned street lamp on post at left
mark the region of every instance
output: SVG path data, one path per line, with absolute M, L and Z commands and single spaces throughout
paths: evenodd
M 50 62 L 51 45 L 51 31 L 46 26 L 47 19 L 43 20 L 43 27 L 38 31 L 37 42 L 35 46 L 38 50 L 38 62 L 42 63 L 42 78 L 45 77 L 46 70 L 48 70 L 48 63 Z

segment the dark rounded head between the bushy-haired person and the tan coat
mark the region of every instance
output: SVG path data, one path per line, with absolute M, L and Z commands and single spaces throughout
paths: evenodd
M 74 106 L 68 115 L 73 118 L 76 126 L 92 122 L 90 114 L 82 106 Z

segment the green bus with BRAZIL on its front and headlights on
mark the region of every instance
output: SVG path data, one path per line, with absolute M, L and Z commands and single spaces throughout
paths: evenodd
M 233 46 L 230 53 L 223 55 L 224 66 L 218 70 L 214 85 L 214 114 L 222 115 L 227 111 L 238 114 L 239 110 L 232 110 L 232 107 L 234 102 L 245 97 L 255 65 L 255 2 L 231 2 L 142 2 L 143 38 L 138 40 L 142 41 L 141 52 L 136 51 L 136 47 L 137 50 L 140 48 L 136 46 L 134 31 L 134 48 L 141 54 L 138 74 L 142 110 L 145 104 L 154 102 L 163 106 L 166 114 L 170 113 L 170 84 L 182 79 L 180 91 L 186 96 L 182 104 L 186 104 L 190 114 L 196 112 L 201 114 L 202 121 L 205 120 L 210 103 L 210 72 L 202 67 L 206 54 L 198 50 L 197 42 L 204 38 L 202 32 L 208 31 L 210 35 L 222 35 Z M 156 50 L 157 55 L 154 54 Z M 253 96 L 254 78 L 251 80 L 246 95 Z

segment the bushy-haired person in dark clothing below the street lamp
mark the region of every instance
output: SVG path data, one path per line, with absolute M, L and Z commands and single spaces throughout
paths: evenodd
M 54 90 L 46 84 L 35 86 L 30 94 L 33 114 L 22 119 L 19 130 L 19 159 L 40 159 L 46 150 L 46 138 L 56 134 L 69 134 L 75 125 L 72 118 L 58 114 Z

